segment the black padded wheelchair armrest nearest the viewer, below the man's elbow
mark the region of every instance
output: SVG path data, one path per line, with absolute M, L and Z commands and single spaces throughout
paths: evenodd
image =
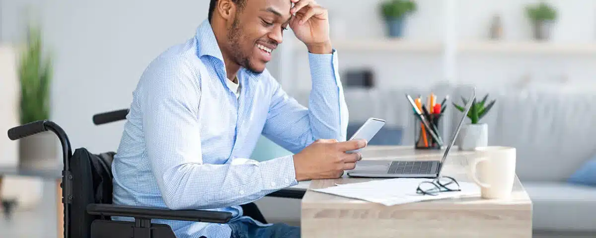
M 170 210 L 145 206 L 124 206 L 98 203 L 91 203 L 87 205 L 87 213 L 91 215 L 179 221 L 201 221 L 205 223 L 227 223 L 232 218 L 231 212 L 206 210 Z

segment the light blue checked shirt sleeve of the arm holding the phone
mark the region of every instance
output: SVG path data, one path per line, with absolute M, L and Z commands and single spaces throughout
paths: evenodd
M 265 162 L 203 162 L 200 77 L 190 68 L 176 60 L 150 66 L 138 95 L 149 164 L 167 208 L 240 205 L 296 184 L 293 156 Z

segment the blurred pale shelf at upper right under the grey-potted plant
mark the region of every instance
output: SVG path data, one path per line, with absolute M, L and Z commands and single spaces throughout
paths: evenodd
M 502 54 L 596 54 L 596 43 L 460 42 L 459 52 Z

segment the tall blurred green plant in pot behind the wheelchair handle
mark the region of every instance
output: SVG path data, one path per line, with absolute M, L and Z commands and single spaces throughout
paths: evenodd
M 26 43 L 19 57 L 20 123 L 49 119 L 52 61 L 43 48 L 42 33 L 29 26 Z M 57 137 L 51 131 L 19 140 L 19 165 L 31 169 L 53 169 L 58 166 Z

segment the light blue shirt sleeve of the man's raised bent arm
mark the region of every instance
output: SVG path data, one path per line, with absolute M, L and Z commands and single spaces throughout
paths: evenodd
M 293 153 L 316 139 L 346 140 L 349 114 L 338 71 L 337 52 L 308 54 L 312 89 L 308 108 L 287 95 L 274 81 L 263 136 Z

